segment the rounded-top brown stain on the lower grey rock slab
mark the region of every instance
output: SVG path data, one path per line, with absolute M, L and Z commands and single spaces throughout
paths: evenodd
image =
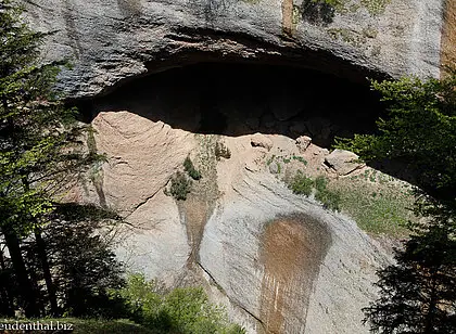
M 261 320 L 266 333 L 290 333 L 288 329 L 297 330 L 304 323 L 313 283 L 330 244 L 328 228 L 306 215 L 280 217 L 268 223 L 261 258 Z

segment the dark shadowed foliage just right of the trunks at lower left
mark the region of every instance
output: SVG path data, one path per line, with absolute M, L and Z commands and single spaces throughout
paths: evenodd
M 121 300 L 107 295 L 109 290 L 124 285 L 123 265 L 116 260 L 110 240 L 96 233 L 100 227 L 88 221 L 54 220 L 42 231 L 58 300 L 67 316 L 111 318 L 124 311 Z

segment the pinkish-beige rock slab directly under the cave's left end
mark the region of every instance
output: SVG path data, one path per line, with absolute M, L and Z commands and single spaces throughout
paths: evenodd
M 191 133 L 128 112 L 100 113 L 92 126 L 97 150 L 107 157 L 101 201 L 125 214 L 163 191 L 194 146 Z

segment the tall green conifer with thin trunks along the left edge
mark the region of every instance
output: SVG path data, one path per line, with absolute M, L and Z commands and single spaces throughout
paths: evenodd
M 38 317 L 38 292 L 21 252 L 22 240 L 35 234 L 52 313 L 58 313 L 55 287 L 41 239 L 62 191 L 93 159 L 84 154 L 84 127 L 65 108 L 53 87 L 58 63 L 42 63 L 46 34 L 21 21 L 22 9 L 0 1 L 0 231 L 17 280 L 20 304 L 27 317 Z

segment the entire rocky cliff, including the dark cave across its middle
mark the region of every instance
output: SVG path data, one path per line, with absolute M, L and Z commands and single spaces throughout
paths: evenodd
M 359 196 L 377 194 L 371 169 L 325 147 L 372 127 L 379 105 L 356 84 L 366 76 L 440 75 L 452 1 L 446 12 L 443 0 L 24 3 L 34 27 L 56 30 L 45 59 L 72 60 L 59 85 L 107 158 L 74 200 L 125 217 L 115 240 L 130 270 L 204 285 L 249 333 L 367 333 L 360 309 L 391 251 L 283 179 L 301 169 L 342 189 L 358 178 Z M 166 70 L 202 62 L 243 65 Z M 203 177 L 176 201 L 187 156 Z

